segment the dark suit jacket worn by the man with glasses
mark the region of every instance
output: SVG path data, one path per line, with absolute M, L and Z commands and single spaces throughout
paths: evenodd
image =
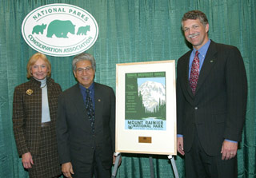
M 106 169 L 112 166 L 115 139 L 114 91 L 106 85 L 94 83 L 94 134 L 87 117 L 79 84 L 66 89 L 58 98 L 57 140 L 61 164 L 71 162 L 87 172 L 98 152 Z

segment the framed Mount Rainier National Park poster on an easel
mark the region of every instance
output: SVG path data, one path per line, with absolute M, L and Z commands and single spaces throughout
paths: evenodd
M 176 155 L 175 61 L 116 66 L 115 152 Z

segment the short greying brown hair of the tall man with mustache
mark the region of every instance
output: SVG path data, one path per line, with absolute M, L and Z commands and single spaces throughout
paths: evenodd
M 208 19 L 206 18 L 206 14 L 204 14 L 200 10 L 190 10 L 186 14 L 183 15 L 182 22 L 186 20 L 196 20 L 199 19 L 203 26 L 208 24 Z M 182 24 L 183 26 L 183 24 Z

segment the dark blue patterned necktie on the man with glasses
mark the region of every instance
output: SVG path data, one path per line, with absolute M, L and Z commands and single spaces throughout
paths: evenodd
M 90 120 L 90 126 L 94 133 L 94 121 L 95 121 L 95 114 L 94 114 L 94 106 L 93 101 L 90 97 L 90 89 L 86 89 L 86 111 L 88 118 Z

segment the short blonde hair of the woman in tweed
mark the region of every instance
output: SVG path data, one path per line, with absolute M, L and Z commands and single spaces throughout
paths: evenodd
M 38 61 L 38 59 L 42 59 L 43 61 L 46 62 L 46 67 L 48 69 L 47 76 L 50 76 L 51 65 L 50 65 L 50 61 L 48 60 L 46 55 L 43 53 L 34 53 L 34 55 L 30 57 L 30 60 L 27 62 L 27 65 L 26 65 L 26 77 L 27 78 L 32 77 L 31 67 Z

